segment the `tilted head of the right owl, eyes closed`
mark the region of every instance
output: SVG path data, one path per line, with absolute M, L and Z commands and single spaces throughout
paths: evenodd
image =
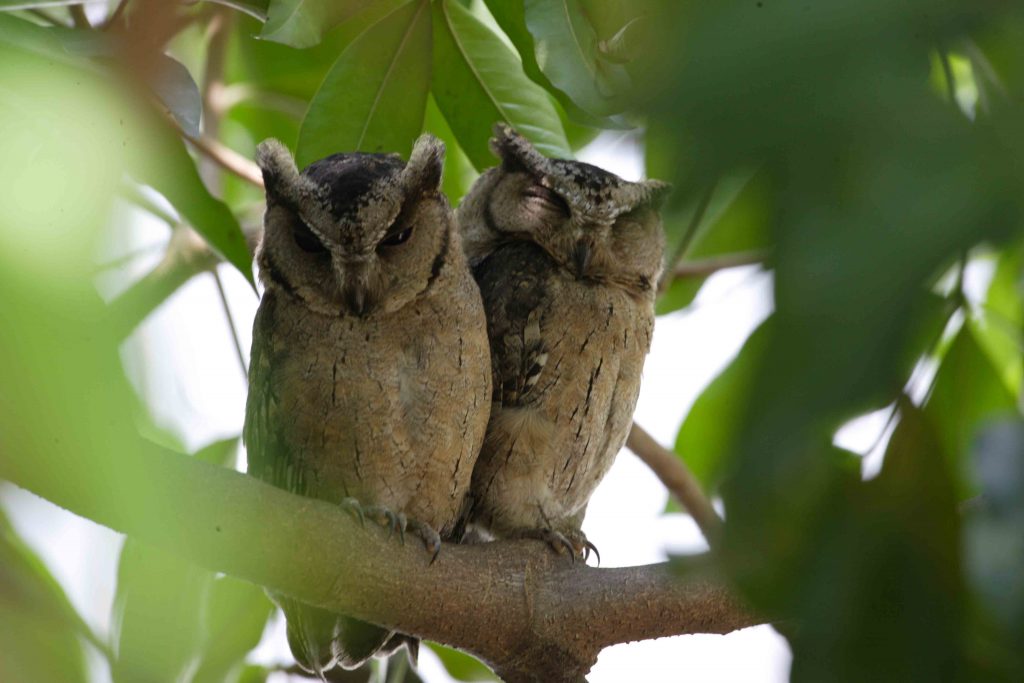
M 667 183 L 630 182 L 590 164 L 549 159 L 502 124 L 490 148 L 501 166 L 481 176 L 459 209 L 471 265 L 501 244 L 526 240 L 580 280 L 653 295 Z

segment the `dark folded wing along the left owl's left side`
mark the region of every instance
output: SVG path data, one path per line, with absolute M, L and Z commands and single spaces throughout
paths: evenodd
M 291 458 L 274 382 L 274 304 L 273 296 L 265 295 L 253 324 L 249 396 L 242 440 L 248 453 L 249 474 L 302 495 L 305 493 L 304 477 Z

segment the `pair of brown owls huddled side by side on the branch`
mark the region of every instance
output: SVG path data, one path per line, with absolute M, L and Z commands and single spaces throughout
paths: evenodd
M 265 291 L 253 331 L 251 474 L 436 554 L 466 524 L 573 558 L 622 447 L 653 329 L 657 181 L 548 159 L 508 127 L 453 212 L 443 145 L 303 172 L 260 145 Z M 415 639 L 274 596 L 304 668 Z

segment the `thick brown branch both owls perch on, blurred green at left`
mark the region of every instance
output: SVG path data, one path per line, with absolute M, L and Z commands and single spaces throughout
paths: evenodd
M 7 453 L 0 475 L 210 569 L 470 651 L 510 683 L 580 681 L 614 643 L 759 623 L 710 574 L 573 565 L 529 541 L 446 545 L 431 565 L 336 506 L 185 456 L 81 462 L 55 447 L 52 463 Z

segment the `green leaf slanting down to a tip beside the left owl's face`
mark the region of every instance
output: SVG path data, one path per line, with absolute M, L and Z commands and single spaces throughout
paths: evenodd
M 148 123 L 144 133 L 125 140 L 132 175 L 167 198 L 210 247 L 254 285 L 252 254 L 234 214 L 207 189 L 181 138 L 156 116 L 143 120 Z

